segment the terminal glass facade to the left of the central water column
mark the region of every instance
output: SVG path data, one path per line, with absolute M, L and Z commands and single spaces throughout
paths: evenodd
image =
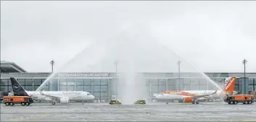
M 25 90 L 35 91 L 45 79 L 17 79 Z M 12 92 L 10 79 L 1 79 L 1 92 Z M 46 91 L 85 91 L 97 98 L 109 97 L 109 79 L 51 79 L 44 84 Z

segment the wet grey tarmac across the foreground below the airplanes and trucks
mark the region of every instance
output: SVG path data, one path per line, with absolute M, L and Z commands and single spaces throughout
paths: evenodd
M 255 103 L 228 105 L 223 102 L 152 103 L 34 103 L 30 106 L 1 104 L 1 121 L 256 121 Z

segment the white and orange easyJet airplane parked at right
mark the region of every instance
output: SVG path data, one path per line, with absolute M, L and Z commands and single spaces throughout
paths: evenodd
M 226 86 L 223 90 L 183 90 L 183 91 L 164 91 L 157 95 L 156 98 L 159 100 L 183 100 L 183 103 L 196 103 L 199 104 L 199 100 L 204 100 L 209 97 L 220 98 L 225 95 L 236 94 L 234 91 L 234 85 L 236 77 L 228 77 L 226 79 Z

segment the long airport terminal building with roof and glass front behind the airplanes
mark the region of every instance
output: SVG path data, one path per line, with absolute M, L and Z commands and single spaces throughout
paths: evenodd
M 234 90 L 241 93 L 255 91 L 256 73 L 205 73 L 210 79 L 223 87 L 227 77 L 239 77 L 236 79 Z M 25 90 L 37 90 L 37 88 L 51 75 L 51 73 L 27 72 L 13 62 L 1 61 L 1 92 L 12 92 L 10 77 L 15 77 Z M 205 77 L 199 77 L 194 73 L 141 73 L 144 76 L 146 90 L 149 98 L 154 98 L 159 92 L 165 90 L 217 90 L 207 82 Z M 178 78 L 180 76 L 180 78 Z M 95 99 L 110 100 L 116 95 L 116 81 L 118 75 L 114 72 L 102 73 L 59 73 L 44 85 L 43 90 L 53 91 L 86 91 L 91 92 Z M 117 90 L 118 91 L 118 90 Z

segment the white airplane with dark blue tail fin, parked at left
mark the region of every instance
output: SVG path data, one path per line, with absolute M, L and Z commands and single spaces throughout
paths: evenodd
M 11 77 L 12 89 L 15 96 L 30 96 L 33 100 L 49 100 L 52 105 L 55 103 L 69 103 L 70 100 L 94 100 L 94 95 L 89 92 L 83 91 L 26 91 L 16 81 L 15 78 Z

